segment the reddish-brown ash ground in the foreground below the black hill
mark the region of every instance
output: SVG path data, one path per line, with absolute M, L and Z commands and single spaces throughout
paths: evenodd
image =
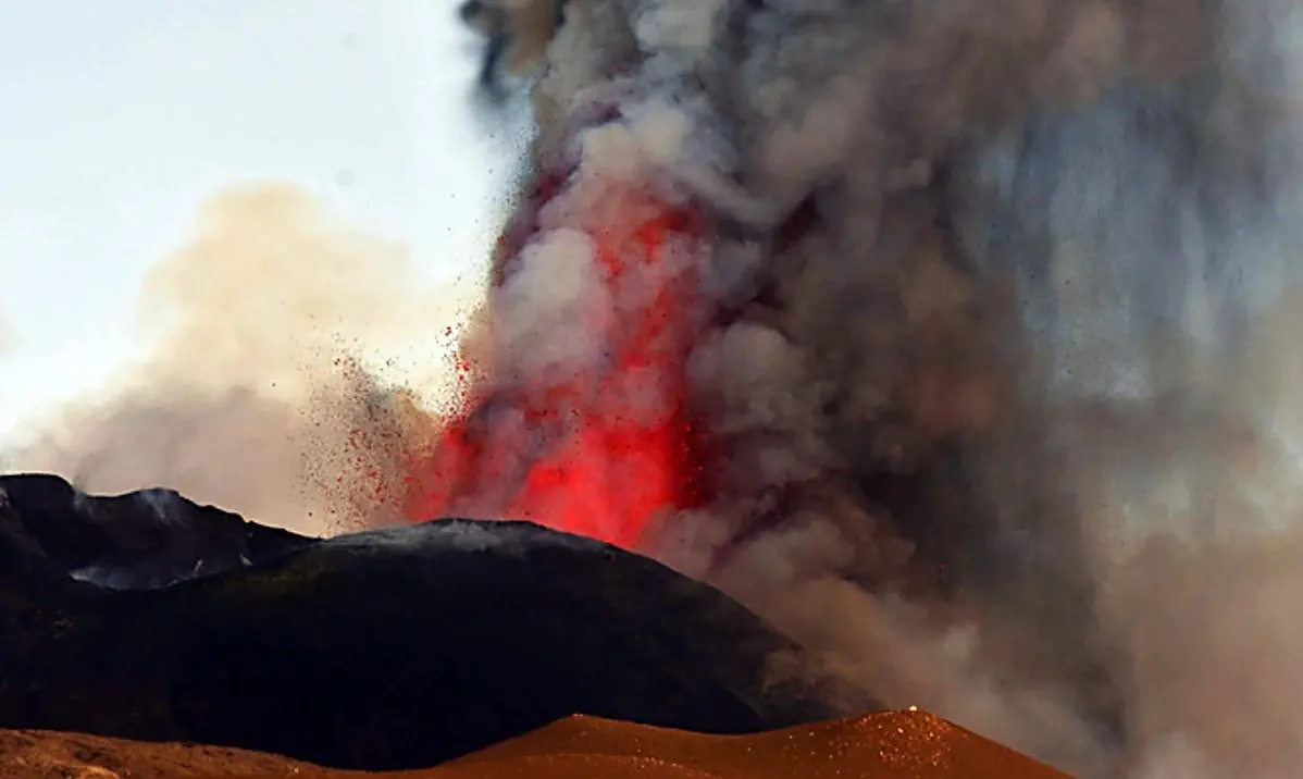
M 276 756 L 0 731 L 9 779 L 344 779 Z M 390 774 L 390 776 L 397 776 Z M 1066 775 L 921 711 L 886 713 L 756 736 L 705 736 L 573 716 L 407 779 L 1065 779 Z

